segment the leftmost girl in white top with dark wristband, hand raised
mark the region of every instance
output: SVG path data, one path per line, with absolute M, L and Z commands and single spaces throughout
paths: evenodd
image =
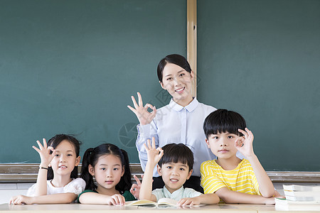
M 11 197 L 9 204 L 63 204 L 74 202 L 85 190 L 85 181 L 78 178 L 80 141 L 70 135 L 58 134 L 48 143 L 37 141 L 41 163 L 36 184 L 27 195 Z

